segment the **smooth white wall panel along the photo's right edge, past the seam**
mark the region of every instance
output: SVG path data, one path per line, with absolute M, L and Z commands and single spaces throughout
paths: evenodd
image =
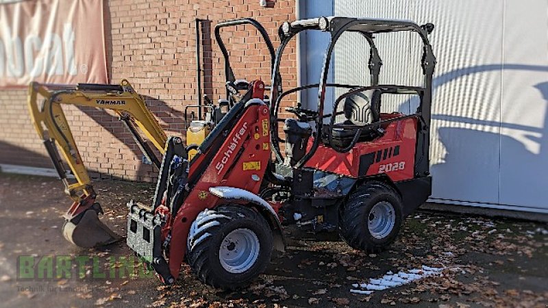
M 500 203 L 548 209 L 548 2 L 504 11 Z

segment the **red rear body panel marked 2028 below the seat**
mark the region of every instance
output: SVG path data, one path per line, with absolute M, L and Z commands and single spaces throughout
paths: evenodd
M 382 119 L 401 116 L 401 114 L 382 114 Z M 320 144 L 306 167 L 327 172 L 364 177 L 386 173 L 392 181 L 413 178 L 416 144 L 416 118 L 408 118 L 388 124 L 386 133 L 373 142 L 358 142 L 348 153 L 338 153 L 334 149 Z M 313 138 L 309 140 L 309 149 Z M 360 174 L 360 157 L 369 155 L 372 164 Z M 363 166 L 362 166 L 363 168 Z

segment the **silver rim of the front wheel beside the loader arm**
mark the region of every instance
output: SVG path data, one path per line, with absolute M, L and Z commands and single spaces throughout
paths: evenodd
M 259 257 L 260 243 L 249 229 L 236 229 L 223 239 L 219 261 L 227 272 L 238 274 L 249 270 Z

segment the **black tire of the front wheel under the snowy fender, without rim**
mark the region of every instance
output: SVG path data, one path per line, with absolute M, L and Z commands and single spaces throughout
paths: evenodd
M 235 230 L 251 231 L 259 243 L 253 265 L 238 273 L 225 269 L 219 257 L 223 240 Z M 269 265 L 272 249 L 273 235 L 268 222 L 257 211 L 242 205 L 221 205 L 202 211 L 188 234 L 187 255 L 192 271 L 203 283 L 223 290 L 249 285 Z

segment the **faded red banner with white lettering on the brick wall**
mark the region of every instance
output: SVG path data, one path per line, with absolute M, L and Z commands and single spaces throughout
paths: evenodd
M 103 0 L 0 2 L 0 88 L 108 83 Z

